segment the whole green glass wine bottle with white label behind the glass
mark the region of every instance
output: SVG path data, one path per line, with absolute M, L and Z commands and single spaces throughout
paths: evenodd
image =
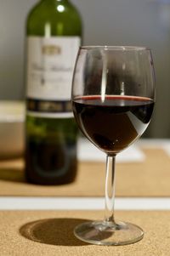
M 26 34 L 26 180 L 71 183 L 77 175 L 71 79 L 81 17 L 69 0 L 42 0 L 28 15 Z

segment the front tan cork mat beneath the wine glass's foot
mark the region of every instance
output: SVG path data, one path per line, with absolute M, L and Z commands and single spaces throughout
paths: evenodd
M 8 256 L 167 256 L 169 211 L 121 211 L 116 217 L 139 225 L 144 238 L 126 246 L 95 246 L 77 240 L 76 225 L 101 219 L 99 211 L 1 211 L 1 255 Z

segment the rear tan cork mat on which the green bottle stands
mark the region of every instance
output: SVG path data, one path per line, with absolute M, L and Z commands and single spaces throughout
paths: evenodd
M 140 142 L 139 151 L 144 159 L 116 163 L 117 197 L 170 197 L 170 143 L 167 142 L 162 145 Z M 104 191 L 105 158 L 79 161 L 74 183 L 50 186 L 27 184 L 23 159 L 0 162 L 0 196 L 101 197 Z

